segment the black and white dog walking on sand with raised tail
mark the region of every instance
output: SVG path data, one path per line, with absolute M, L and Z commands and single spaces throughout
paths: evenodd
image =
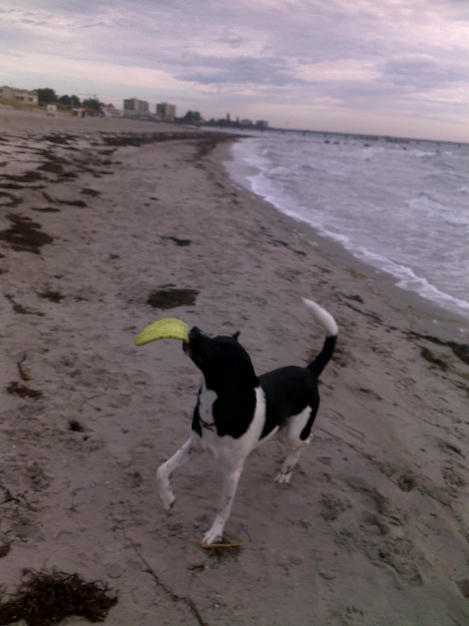
M 184 352 L 201 369 L 203 381 L 191 426 L 191 434 L 176 454 L 159 466 L 157 479 L 163 506 L 169 510 L 174 495 L 169 476 L 174 469 L 204 450 L 211 451 L 223 475 L 218 513 L 203 543 L 222 540 L 248 454 L 274 434 L 289 453 L 275 480 L 290 482 L 293 469 L 311 440 L 311 426 L 319 406 L 318 377 L 328 364 L 336 344 L 335 319 L 311 300 L 303 300 L 326 330 L 323 349 L 307 367 L 281 367 L 257 377 L 248 353 L 233 337 L 210 337 L 194 327 Z

